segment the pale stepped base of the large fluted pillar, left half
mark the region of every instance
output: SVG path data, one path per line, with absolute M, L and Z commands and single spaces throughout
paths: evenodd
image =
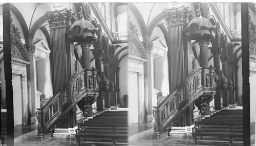
M 57 128 L 54 130 L 53 137 L 57 138 L 75 138 L 75 130 L 77 126 L 74 128 Z

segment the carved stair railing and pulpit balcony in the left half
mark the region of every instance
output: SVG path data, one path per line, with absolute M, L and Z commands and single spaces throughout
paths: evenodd
M 97 70 L 87 69 L 78 72 L 46 103 L 38 109 L 38 134 L 46 135 L 52 132 L 61 119 L 73 106 L 83 98 L 97 98 Z M 41 99 L 41 102 L 44 101 Z

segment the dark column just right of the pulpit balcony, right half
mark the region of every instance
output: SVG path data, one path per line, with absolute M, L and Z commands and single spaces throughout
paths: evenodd
M 211 53 L 214 56 L 214 68 L 216 68 L 215 72 L 217 75 L 220 77 L 220 54 L 221 54 L 221 48 L 218 46 L 212 45 L 211 48 Z M 220 79 L 217 81 L 217 86 L 216 86 L 216 95 L 214 98 L 214 105 L 215 105 L 215 110 L 220 110 L 221 109 L 221 93 L 220 93 Z

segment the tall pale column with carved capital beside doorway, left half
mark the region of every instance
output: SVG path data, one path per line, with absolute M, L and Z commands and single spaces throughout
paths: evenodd
M 35 116 L 35 105 L 36 103 L 36 47 L 35 45 L 27 45 L 27 49 L 29 51 L 29 60 L 30 64 L 27 67 L 28 73 L 28 88 L 29 88 L 29 94 L 28 94 L 28 108 L 29 108 L 29 114 L 30 114 L 30 123 L 36 122 L 36 116 Z

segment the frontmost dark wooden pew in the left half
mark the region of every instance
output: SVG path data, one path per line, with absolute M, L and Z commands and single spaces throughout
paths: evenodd
M 78 124 L 76 130 L 76 142 L 80 145 L 80 138 L 86 140 L 86 138 L 99 138 L 103 142 L 113 142 L 113 145 L 116 145 L 116 142 L 119 140 L 126 141 L 128 140 L 128 128 L 127 123 L 108 123 L 108 122 L 94 122 L 86 121 L 82 124 Z M 98 130 L 89 130 L 90 128 L 96 128 Z M 99 128 L 104 128 L 100 131 Z

